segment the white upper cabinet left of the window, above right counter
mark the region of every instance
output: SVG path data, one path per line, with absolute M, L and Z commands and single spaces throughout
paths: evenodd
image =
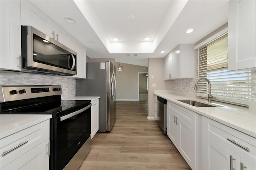
M 179 44 L 164 58 L 164 79 L 194 77 L 194 44 Z

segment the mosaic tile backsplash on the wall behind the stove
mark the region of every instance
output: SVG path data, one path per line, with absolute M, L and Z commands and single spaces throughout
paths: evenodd
M 65 76 L 0 71 L 0 85 L 61 85 L 62 98 L 76 95 L 76 79 Z

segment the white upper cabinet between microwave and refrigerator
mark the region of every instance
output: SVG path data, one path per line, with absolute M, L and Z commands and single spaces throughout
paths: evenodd
M 76 51 L 76 75 L 77 79 L 86 79 L 86 48 L 76 40 L 73 40 L 71 48 Z

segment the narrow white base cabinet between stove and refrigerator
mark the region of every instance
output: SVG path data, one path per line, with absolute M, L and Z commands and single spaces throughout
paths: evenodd
M 93 138 L 99 130 L 99 99 L 92 101 L 91 124 L 91 136 Z

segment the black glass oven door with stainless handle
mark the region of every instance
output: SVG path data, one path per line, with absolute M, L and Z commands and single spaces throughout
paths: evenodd
M 55 168 L 63 169 L 91 134 L 91 104 L 57 118 L 54 128 Z

